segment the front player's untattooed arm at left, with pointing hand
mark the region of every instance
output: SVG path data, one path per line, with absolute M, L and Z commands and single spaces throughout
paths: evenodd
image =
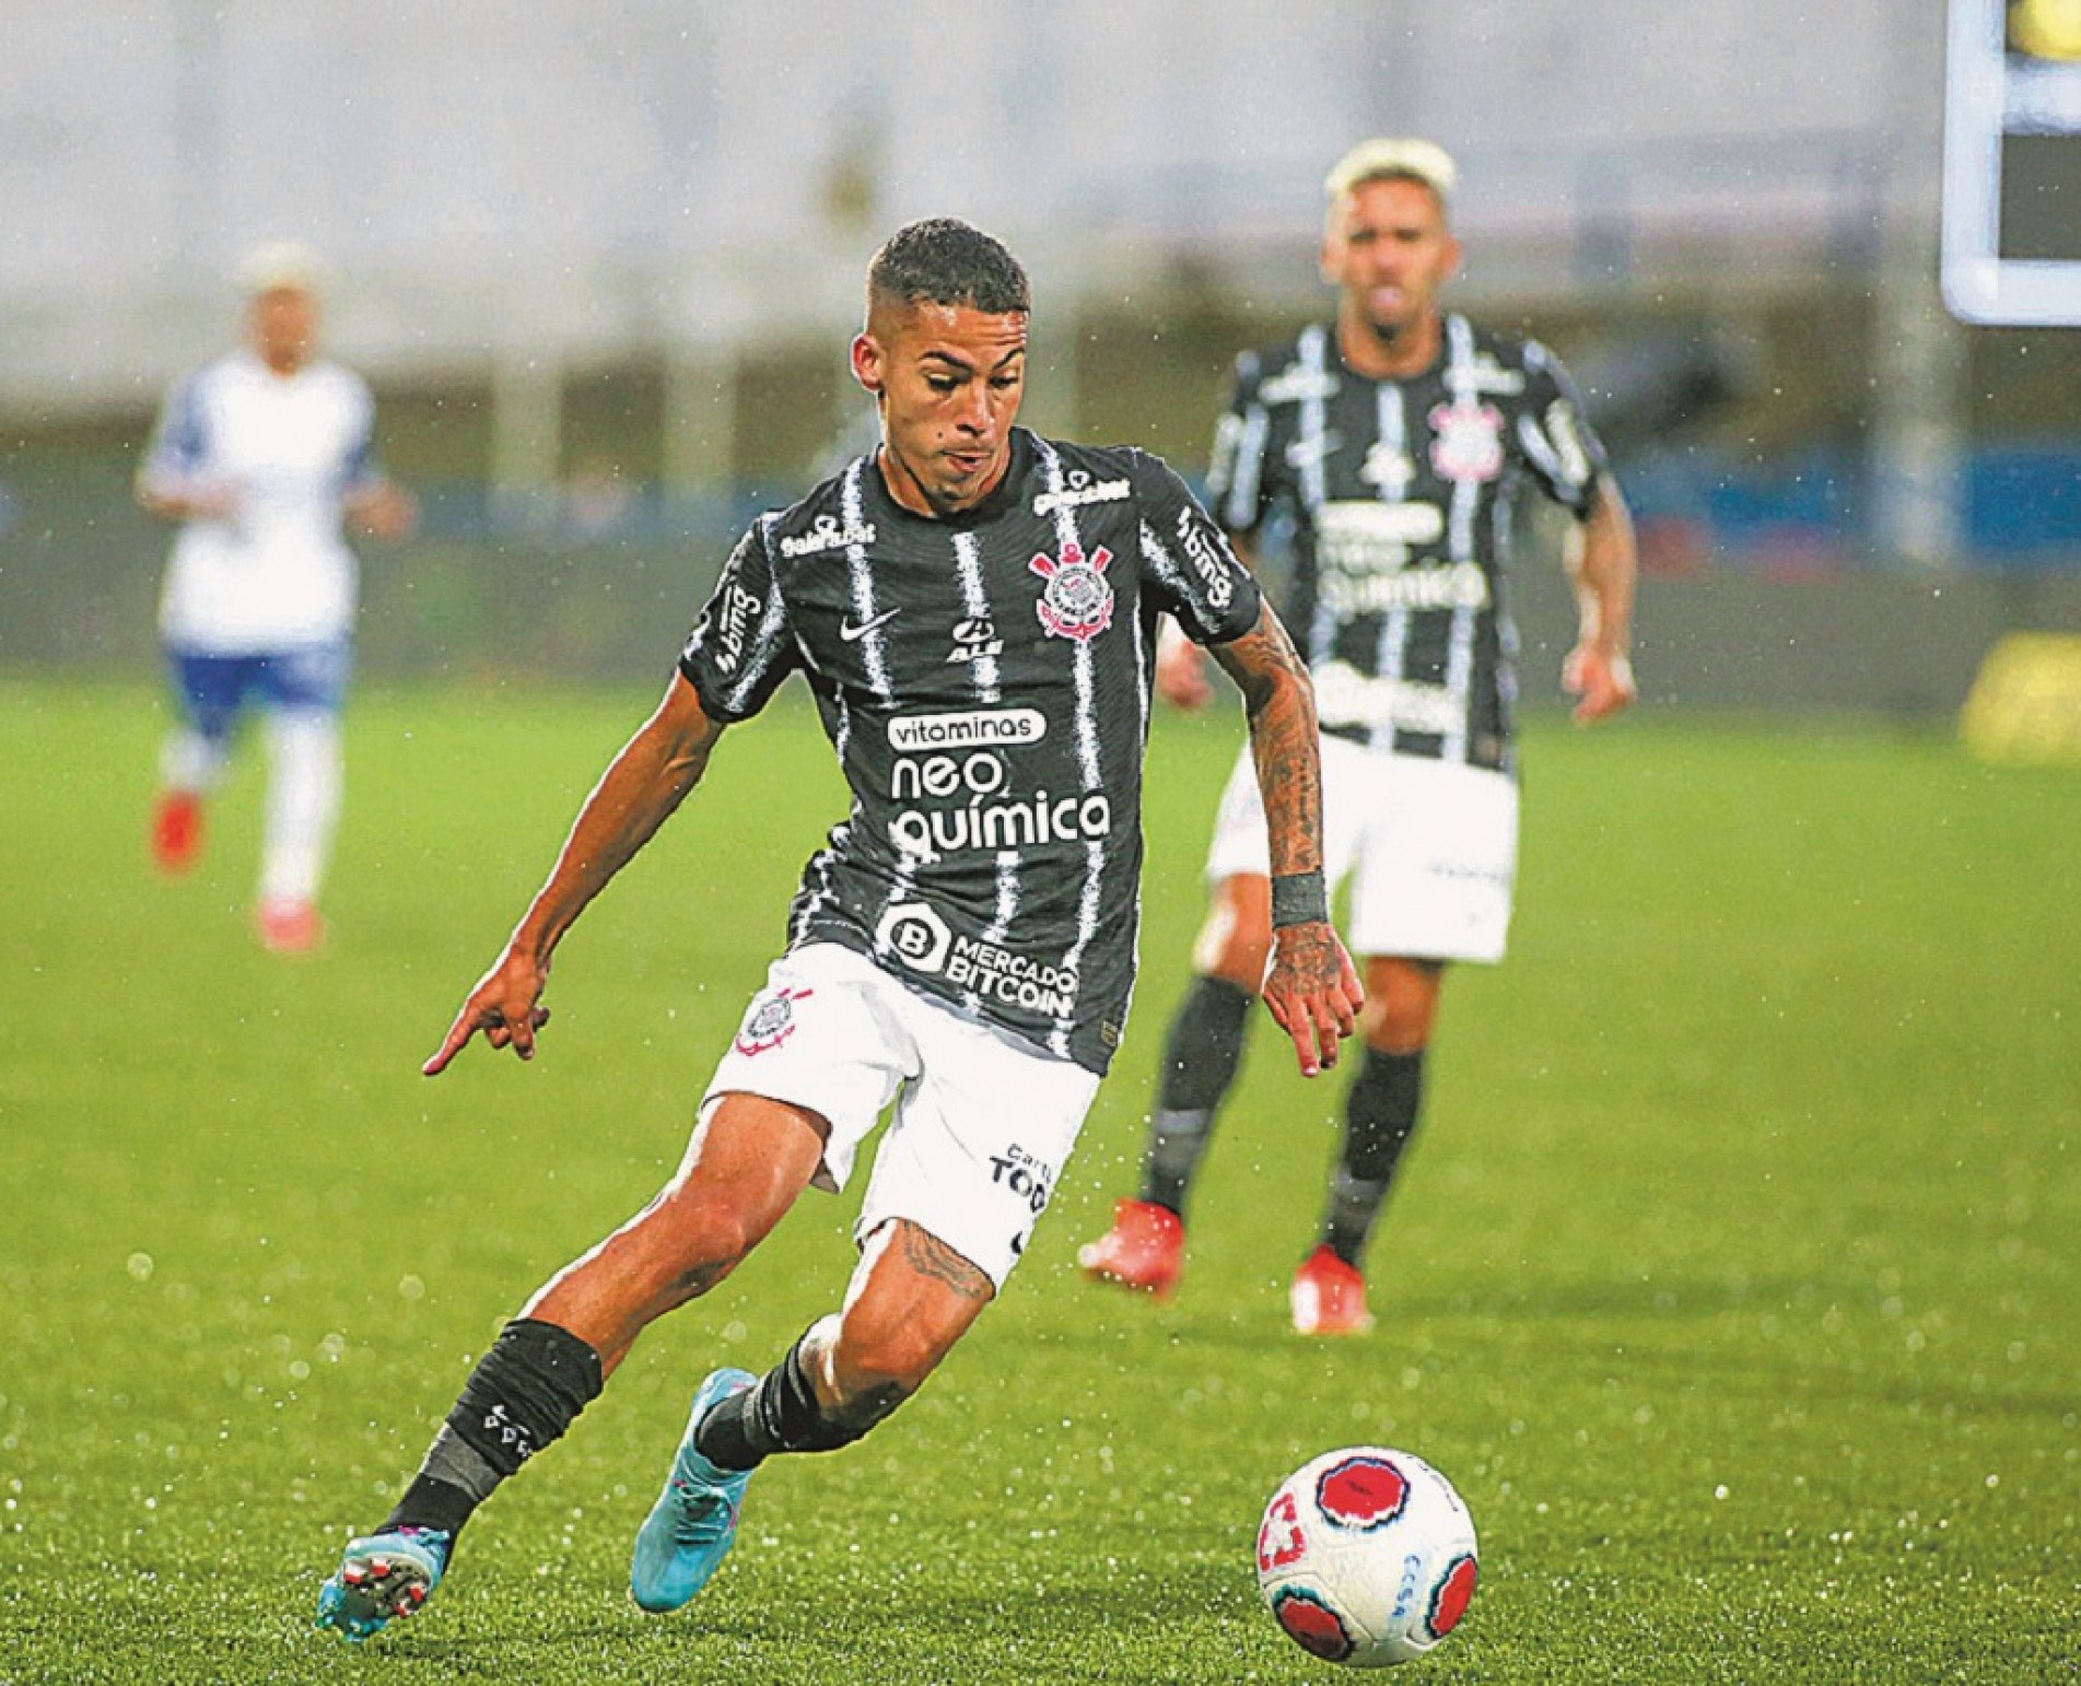
M 422 1066 L 427 1076 L 447 1070 L 447 1062 L 477 1032 L 491 1047 L 510 1047 L 522 1059 L 535 1057 L 535 1032 L 549 1022 L 541 991 L 549 982 L 556 945 L 585 905 L 701 783 L 718 737 L 722 724 L 708 718 L 693 685 L 672 674 L 658 712 L 622 745 L 585 799 L 549 880 L 514 928 L 506 953 L 479 978 L 441 1047 Z

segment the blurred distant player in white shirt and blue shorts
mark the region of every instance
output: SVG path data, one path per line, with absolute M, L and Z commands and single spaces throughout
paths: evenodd
M 339 814 L 339 701 L 354 624 L 348 522 L 412 531 L 410 495 L 375 458 L 362 379 L 316 356 L 316 266 L 291 244 L 241 269 L 246 346 L 175 385 L 137 472 L 137 502 L 179 522 L 158 629 L 179 724 L 160 756 L 152 853 L 185 872 L 202 803 L 250 706 L 266 718 L 260 941 L 318 943 L 318 885 Z

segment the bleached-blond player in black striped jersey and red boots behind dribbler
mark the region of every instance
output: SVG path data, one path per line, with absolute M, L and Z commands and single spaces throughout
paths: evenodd
M 1321 275 L 1332 323 L 1244 354 L 1222 416 L 1209 502 L 1247 558 L 1292 522 L 1288 622 L 1321 716 L 1330 880 L 1353 878 L 1363 1059 L 1319 1245 L 1292 1280 L 1303 1334 L 1371 1328 L 1361 1257 L 1423 1101 L 1446 964 L 1502 957 L 1517 866 L 1509 547 L 1523 491 L 1573 518 L 1582 635 L 1563 668 L 1575 718 L 1634 699 L 1634 531 L 1573 385 L 1536 341 L 1473 329 L 1438 296 L 1459 269 L 1453 160 L 1371 139 L 1328 179 Z M 1157 687 L 1211 695 L 1194 649 L 1165 643 Z M 1274 887 L 1265 818 L 1232 778 L 1215 818 L 1213 887 L 1157 1080 L 1140 1199 L 1080 1249 L 1086 1274 L 1167 1295 L 1184 1207 L 1236 1080 L 1263 976 Z

